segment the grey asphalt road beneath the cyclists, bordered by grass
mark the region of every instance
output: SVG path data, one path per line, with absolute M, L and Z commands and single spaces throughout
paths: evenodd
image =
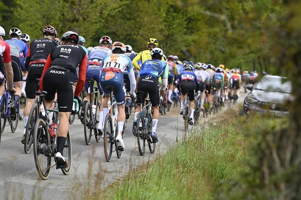
M 244 96 L 241 93 L 240 99 Z M 104 157 L 103 140 L 96 143 L 92 136 L 91 145 L 85 144 L 83 125 L 76 117 L 69 126 L 73 156 L 70 174 L 66 176 L 60 169 L 52 167 L 50 176 L 43 181 L 36 171 L 33 149 L 25 154 L 20 142 L 24 121 L 20 121 L 15 133 L 11 133 L 9 126 L 5 127 L 0 144 L 0 199 L 80 198 L 79 195 L 85 191 L 80 188 L 86 187 L 91 180 L 89 187 L 93 190 L 96 177 L 98 180 L 101 177 L 101 188 L 105 188 L 132 168 L 148 162 L 158 153 L 164 153 L 166 146 L 173 144 L 177 136 L 182 137 L 184 120 L 178 115 L 178 109 L 172 108 L 166 115 L 160 115 L 157 135 L 161 142 L 157 143 L 154 154 L 149 153 L 146 147 L 144 156 L 140 156 L 136 138 L 132 135 L 132 113 L 124 133 L 125 151 L 120 159 L 113 152 L 110 162 L 106 162 Z M 51 164 L 54 164 L 53 159 Z

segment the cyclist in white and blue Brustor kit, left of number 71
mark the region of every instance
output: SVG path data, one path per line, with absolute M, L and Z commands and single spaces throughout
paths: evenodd
M 104 56 L 106 56 L 107 54 L 112 53 L 111 50 L 111 46 L 112 46 L 112 40 L 109 36 L 102 36 L 99 40 L 99 46 L 96 46 L 94 48 L 92 48 L 92 50 L 90 51 L 90 54 L 88 56 L 88 66 L 87 66 L 87 73 L 86 73 L 86 78 L 91 78 L 94 81 L 96 81 L 97 83 L 97 87 L 99 90 L 100 95 L 100 112 L 99 112 L 99 122 L 98 122 L 98 126 L 97 129 L 98 131 L 102 130 L 102 122 L 103 122 L 103 98 L 102 98 L 102 90 L 99 84 L 99 75 L 100 75 L 100 70 L 101 70 L 101 61 L 104 59 Z M 86 82 L 85 83 L 85 92 L 86 92 L 86 97 L 83 99 L 83 106 L 82 106 L 82 111 L 81 111 L 81 121 L 83 122 L 84 119 L 84 109 L 85 109 L 85 105 L 87 102 L 90 101 L 90 96 L 88 93 L 88 89 L 90 87 L 90 83 Z M 93 92 L 93 87 L 90 88 L 90 92 Z

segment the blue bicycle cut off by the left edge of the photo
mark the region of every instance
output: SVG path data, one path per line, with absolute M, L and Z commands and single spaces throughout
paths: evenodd
M 11 126 L 11 132 L 15 132 L 18 126 L 18 122 L 19 122 L 19 105 L 20 105 L 20 100 L 17 103 L 16 106 L 16 119 L 15 120 L 11 120 L 10 114 L 11 111 L 9 109 L 9 105 L 14 101 L 15 97 L 14 97 L 14 92 L 13 90 L 5 90 L 6 92 L 4 93 L 4 95 L 1 98 L 0 101 L 0 109 L 1 109 L 1 134 L 4 132 L 5 129 L 5 125 L 6 125 L 6 121 L 8 121 L 8 124 Z M 9 102 L 8 102 L 9 100 Z

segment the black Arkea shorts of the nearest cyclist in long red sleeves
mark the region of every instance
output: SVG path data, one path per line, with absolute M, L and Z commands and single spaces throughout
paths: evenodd
M 43 91 L 47 92 L 46 101 L 52 101 L 57 92 L 59 112 L 71 112 L 73 106 L 73 77 L 72 71 L 49 68 L 43 77 Z

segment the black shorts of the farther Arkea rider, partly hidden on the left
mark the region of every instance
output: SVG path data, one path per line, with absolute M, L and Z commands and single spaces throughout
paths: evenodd
M 37 78 L 41 78 L 45 62 L 37 62 L 28 65 L 28 75 L 26 78 L 25 93 L 26 97 L 30 99 L 36 98 L 36 91 L 39 90 Z

